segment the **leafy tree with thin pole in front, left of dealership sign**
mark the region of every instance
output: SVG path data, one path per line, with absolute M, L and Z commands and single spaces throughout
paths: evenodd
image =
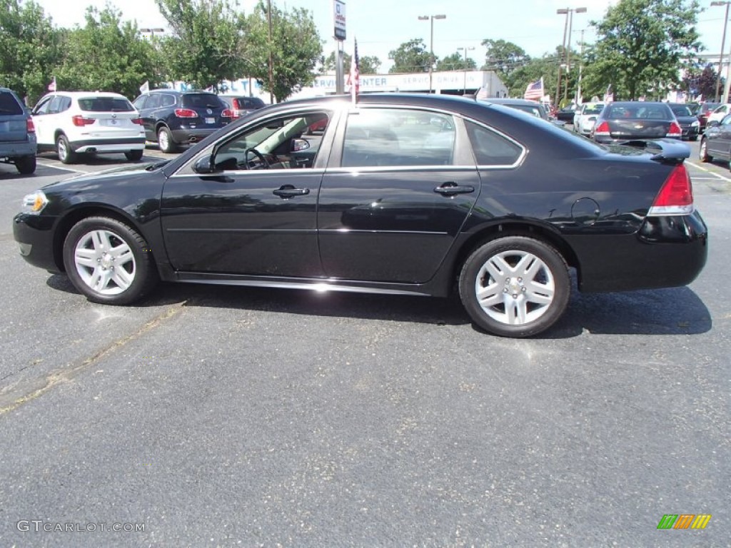
M 271 26 L 262 1 L 246 18 L 245 44 L 251 59 L 246 72 L 257 78 L 279 102 L 313 82 L 315 67 L 322 59 L 322 40 L 307 9 L 282 11 L 274 4 L 271 8 Z M 273 85 L 269 80 L 270 53 Z

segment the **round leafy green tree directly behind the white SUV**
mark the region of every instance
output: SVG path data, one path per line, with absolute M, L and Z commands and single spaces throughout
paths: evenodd
M 151 87 L 159 84 L 156 50 L 140 36 L 137 23 L 120 18 L 108 4 L 101 12 L 90 6 L 86 26 L 64 33 L 67 54 L 56 69 L 58 88 L 115 91 L 135 99 L 145 80 Z

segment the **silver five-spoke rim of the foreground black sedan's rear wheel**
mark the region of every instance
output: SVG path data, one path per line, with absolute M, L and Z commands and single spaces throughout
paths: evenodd
M 550 308 L 556 285 L 548 266 L 527 251 L 503 251 L 491 256 L 474 283 L 477 302 L 493 320 L 523 325 Z

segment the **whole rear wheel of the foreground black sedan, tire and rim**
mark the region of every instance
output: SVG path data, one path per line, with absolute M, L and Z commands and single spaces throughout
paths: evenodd
M 480 288 L 486 290 L 482 302 L 477 295 Z M 558 321 L 569 302 L 571 278 L 566 261 L 553 246 L 512 235 L 491 240 L 469 256 L 460 274 L 459 293 L 467 313 L 483 330 L 523 338 Z

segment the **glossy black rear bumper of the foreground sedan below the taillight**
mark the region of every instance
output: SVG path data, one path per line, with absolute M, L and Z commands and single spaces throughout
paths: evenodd
M 567 241 L 579 261 L 579 289 L 586 293 L 686 286 L 708 257 L 708 228 L 697 211 L 645 218 L 635 234 Z

